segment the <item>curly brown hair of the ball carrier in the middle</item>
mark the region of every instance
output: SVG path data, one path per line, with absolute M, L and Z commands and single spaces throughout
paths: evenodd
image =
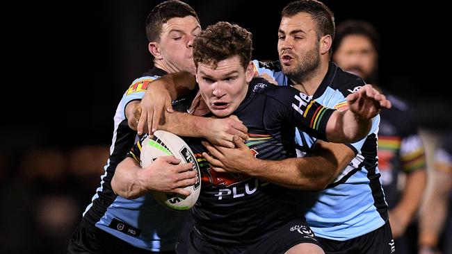
M 239 56 L 243 67 L 251 60 L 252 34 L 238 25 L 218 22 L 200 33 L 193 42 L 193 60 L 216 67 L 217 63 Z

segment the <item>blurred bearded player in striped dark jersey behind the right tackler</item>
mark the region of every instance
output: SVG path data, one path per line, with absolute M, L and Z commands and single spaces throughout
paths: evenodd
M 378 50 L 378 32 L 368 22 L 347 20 L 337 26 L 334 61 L 375 86 L 379 85 Z M 408 239 L 405 231 L 417 214 L 426 186 L 424 148 L 410 106 L 387 90 L 383 93 L 392 108 L 380 113 L 378 169 L 397 253 L 414 253 L 416 240 Z M 405 176 L 405 185 L 400 176 Z

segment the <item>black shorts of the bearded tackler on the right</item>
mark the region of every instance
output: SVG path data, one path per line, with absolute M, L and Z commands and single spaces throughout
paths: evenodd
M 396 248 L 389 221 L 372 232 L 346 241 L 317 237 L 325 254 L 394 254 Z

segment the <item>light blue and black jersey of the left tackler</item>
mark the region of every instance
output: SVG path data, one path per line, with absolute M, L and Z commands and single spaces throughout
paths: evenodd
M 163 208 L 151 194 L 131 200 L 117 196 L 111 189 L 111 178 L 118 163 L 124 160 L 127 152 L 138 141 L 136 132 L 127 123 L 127 104 L 142 99 L 147 86 L 165 74 L 161 69 L 151 69 L 136 79 L 122 96 L 114 117 L 113 139 L 110 156 L 104 167 L 105 173 L 92 197 L 92 203 L 83 213 L 83 218 L 97 228 L 133 246 L 156 252 L 175 249 L 187 212 L 172 212 Z

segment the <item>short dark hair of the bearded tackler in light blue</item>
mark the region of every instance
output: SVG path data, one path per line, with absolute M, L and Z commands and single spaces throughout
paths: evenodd
M 282 9 L 281 17 L 292 17 L 300 12 L 311 15 L 317 25 L 317 37 L 331 35 L 334 39 L 334 14 L 325 4 L 316 0 L 294 1 Z

